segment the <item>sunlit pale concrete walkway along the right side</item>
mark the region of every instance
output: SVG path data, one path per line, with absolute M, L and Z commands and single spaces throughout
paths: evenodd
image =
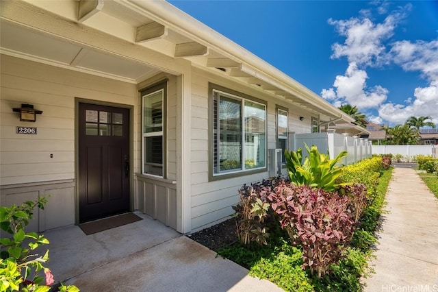
M 438 199 L 416 171 L 394 169 L 365 292 L 438 291 Z

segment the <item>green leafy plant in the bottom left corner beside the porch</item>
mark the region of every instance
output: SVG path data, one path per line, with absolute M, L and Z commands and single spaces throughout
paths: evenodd
M 21 206 L 0 207 L 0 228 L 10 237 L 0 239 L 0 291 L 45 292 L 55 282 L 53 275 L 44 263 L 49 260 L 49 250 L 43 256 L 31 254 L 37 247 L 49 244 L 42 234 L 25 232 L 25 226 L 33 219 L 34 208 L 44 209 L 46 197 L 36 202 L 27 201 Z M 44 278 L 39 275 L 44 272 Z M 60 291 L 79 291 L 75 286 L 61 285 Z

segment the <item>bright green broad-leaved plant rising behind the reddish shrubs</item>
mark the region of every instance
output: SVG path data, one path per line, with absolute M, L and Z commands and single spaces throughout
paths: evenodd
M 348 155 L 342 151 L 334 159 L 329 159 L 329 154 L 320 154 L 318 147 L 312 145 L 311 149 L 305 145 L 308 157 L 302 162 L 302 149 L 297 151 L 285 151 L 286 167 L 289 178 L 297 186 L 312 186 L 334 191 L 339 186 L 336 180 L 341 175 L 337 163 Z

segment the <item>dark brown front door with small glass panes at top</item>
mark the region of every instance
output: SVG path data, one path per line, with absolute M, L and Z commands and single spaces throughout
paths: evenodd
M 129 110 L 79 104 L 79 222 L 129 211 Z

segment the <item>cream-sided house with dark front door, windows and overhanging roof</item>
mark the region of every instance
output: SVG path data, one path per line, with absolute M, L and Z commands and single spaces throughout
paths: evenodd
M 0 5 L 1 204 L 51 195 L 34 230 L 129 210 L 199 230 L 268 149 L 354 121 L 165 1 Z

